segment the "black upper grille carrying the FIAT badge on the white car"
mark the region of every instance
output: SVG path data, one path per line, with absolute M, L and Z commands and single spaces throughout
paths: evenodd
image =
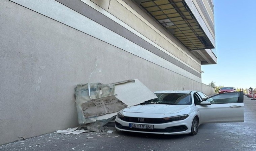
M 119 117 L 120 119 L 122 119 L 123 121 L 127 121 L 127 122 L 135 122 L 135 123 L 148 123 L 148 124 L 161 124 L 161 123 L 168 123 L 168 122 L 172 122 L 172 120 L 165 120 L 163 118 L 143 118 L 144 121 L 139 121 L 139 118 L 142 117 L 128 117 L 128 116 L 124 116 L 124 117 Z

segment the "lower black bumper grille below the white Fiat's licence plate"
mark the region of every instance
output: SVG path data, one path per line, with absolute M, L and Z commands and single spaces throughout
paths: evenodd
M 130 127 L 125 127 L 122 124 L 116 122 L 116 127 L 118 127 L 119 129 L 123 129 L 123 130 L 131 130 L 131 131 L 141 131 L 141 132 L 158 132 L 158 133 L 174 133 L 174 132 L 183 132 L 183 131 L 187 131 L 188 128 L 185 125 L 179 125 L 179 126 L 175 126 L 175 127 L 168 127 L 165 129 L 137 129 L 137 128 L 130 128 Z

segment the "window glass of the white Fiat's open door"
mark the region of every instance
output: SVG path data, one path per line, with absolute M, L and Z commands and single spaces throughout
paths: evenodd
M 206 101 L 211 102 L 212 104 L 224 104 L 224 103 L 237 103 L 239 102 L 239 96 L 241 93 L 231 92 L 231 93 L 223 93 L 219 95 L 212 96 Z

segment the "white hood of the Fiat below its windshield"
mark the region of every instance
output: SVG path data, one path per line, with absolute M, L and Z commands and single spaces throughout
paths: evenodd
M 123 112 L 170 114 L 186 110 L 190 105 L 146 104 L 123 109 Z

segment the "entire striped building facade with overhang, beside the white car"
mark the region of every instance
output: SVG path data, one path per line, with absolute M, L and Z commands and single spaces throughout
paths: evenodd
M 0 0 L 0 31 L 0 144 L 76 127 L 96 64 L 92 83 L 214 93 L 212 0 Z

